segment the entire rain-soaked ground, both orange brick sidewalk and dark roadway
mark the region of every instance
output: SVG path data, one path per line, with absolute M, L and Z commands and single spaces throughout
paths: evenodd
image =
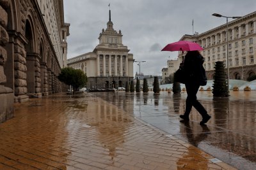
M 15 103 L 0 124 L 0 169 L 256 169 L 255 92 L 199 92 L 205 126 L 195 110 L 180 122 L 185 99 L 104 92 Z

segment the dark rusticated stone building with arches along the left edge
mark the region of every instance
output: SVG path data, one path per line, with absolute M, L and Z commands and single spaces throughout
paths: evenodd
M 44 4 L 54 11 L 48 24 Z M 63 17 L 62 0 L 0 0 L 0 122 L 12 117 L 13 102 L 61 91 L 57 76 L 69 34 Z

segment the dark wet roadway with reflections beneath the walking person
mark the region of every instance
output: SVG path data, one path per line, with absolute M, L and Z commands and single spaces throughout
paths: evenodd
M 193 108 L 190 122 L 180 122 L 184 113 L 186 92 L 179 95 L 161 92 L 154 95 L 115 92 L 95 93 L 154 127 L 211 153 L 239 169 L 256 169 L 256 92 L 232 92 L 230 97 L 212 97 L 198 92 L 211 120 L 200 126 L 200 115 Z

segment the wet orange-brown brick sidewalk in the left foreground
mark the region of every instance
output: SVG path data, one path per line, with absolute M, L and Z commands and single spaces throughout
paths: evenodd
M 16 103 L 0 124 L 0 169 L 235 168 L 84 93 Z

